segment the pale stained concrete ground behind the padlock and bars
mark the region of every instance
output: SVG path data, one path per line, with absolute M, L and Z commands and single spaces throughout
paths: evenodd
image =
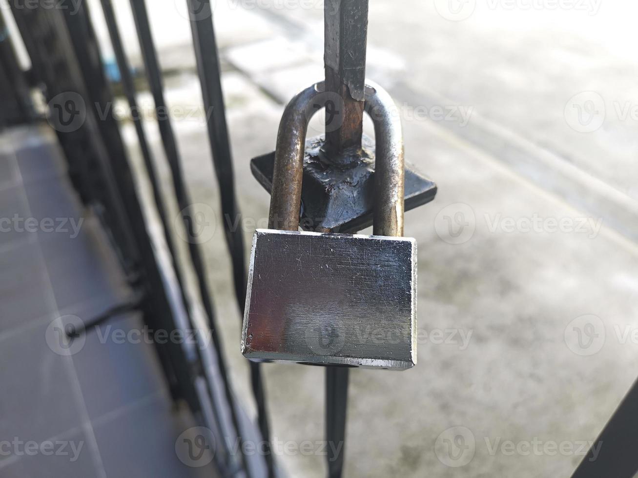
M 274 148 L 285 101 L 322 77 L 321 8 L 254 4 L 219 0 L 214 18 L 247 252 L 269 202 L 249 159 Z M 618 112 L 638 99 L 635 33 L 623 27 L 637 7 L 530 4 L 469 1 L 454 13 L 439 1 L 371 3 L 368 76 L 401 106 L 406 157 L 440 192 L 406 214 L 419 242 L 419 365 L 352 371 L 346 476 L 568 476 L 636 378 L 638 135 Z M 192 113 L 174 126 L 193 201 L 217 212 L 179 11 L 154 9 L 154 32 L 163 66 L 179 72 L 168 101 Z M 119 12 L 130 25 L 126 2 Z M 584 91 L 595 94 L 573 99 Z M 124 131 L 135 153 L 130 124 Z M 203 250 L 235 390 L 248 401 L 223 234 Z M 264 369 L 272 435 L 322 440 L 323 371 Z M 319 453 L 280 461 L 291 476 L 325 474 Z

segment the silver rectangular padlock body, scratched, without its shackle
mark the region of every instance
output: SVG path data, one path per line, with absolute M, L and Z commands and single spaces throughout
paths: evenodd
M 256 361 L 411 368 L 416 264 L 411 238 L 258 229 L 242 354 Z

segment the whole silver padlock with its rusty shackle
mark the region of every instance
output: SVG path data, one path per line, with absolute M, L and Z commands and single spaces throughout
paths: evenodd
M 269 229 L 253 238 L 241 349 L 254 361 L 406 370 L 417 363 L 417 245 L 403 238 L 404 154 L 396 105 L 366 82 L 375 124 L 373 236 L 300 232 L 308 122 L 323 82 L 286 106 Z

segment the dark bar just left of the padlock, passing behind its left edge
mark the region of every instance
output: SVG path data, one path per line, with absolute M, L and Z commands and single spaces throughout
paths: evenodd
M 235 198 L 235 180 L 232 154 L 226 126 L 226 112 L 221 89 L 221 68 L 212 22 L 210 0 L 187 0 L 191 19 L 193 47 L 197 58 L 197 69 L 202 87 L 202 98 L 207 117 L 209 142 L 212 159 L 221 195 L 221 210 L 224 218 L 226 245 L 232 257 L 235 296 L 240 312 L 246 304 L 246 258 L 244 238 L 241 229 L 232 228 L 241 219 Z M 209 114 L 212 113 L 212 114 Z M 230 219 L 230 221 L 228 220 Z M 263 441 L 268 444 L 265 461 L 268 474 L 274 476 L 274 460 L 270 450 L 270 430 L 267 416 L 265 388 L 261 368 L 258 363 L 250 362 L 251 386 L 257 406 L 258 426 Z

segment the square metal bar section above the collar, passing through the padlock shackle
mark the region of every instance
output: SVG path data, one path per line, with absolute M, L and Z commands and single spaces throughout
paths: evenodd
M 334 162 L 361 149 L 366 83 L 368 0 L 326 0 L 325 91 L 341 105 L 326 104 L 325 149 Z

